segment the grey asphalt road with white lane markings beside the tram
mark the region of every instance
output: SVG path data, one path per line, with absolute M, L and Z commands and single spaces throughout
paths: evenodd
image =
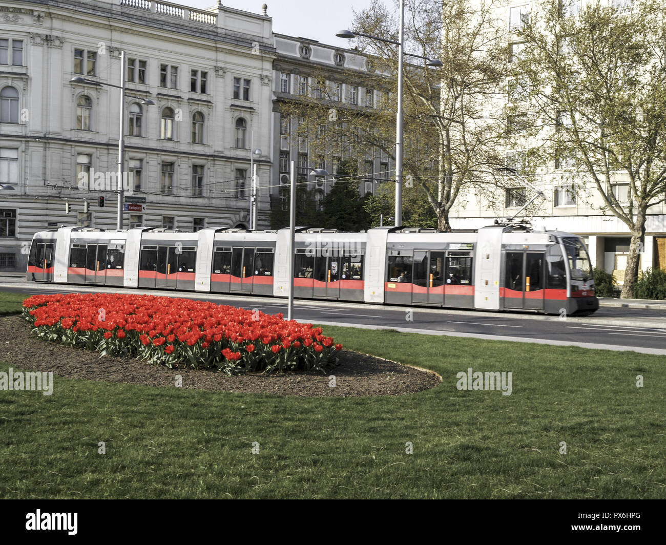
M 4 291 L 33 293 L 54 292 L 137 292 L 131 289 L 112 289 L 101 286 L 65 286 L 34 284 L 15 278 L 1 278 Z M 286 316 L 287 301 L 280 298 L 196 294 L 166 290 L 141 290 L 186 298 L 210 300 L 218 304 L 231 304 L 243 308 L 258 308 L 262 312 Z M 442 310 L 421 306 L 384 306 L 337 301 L 296 300 L 294 318 L 300 322 L 384 328 L 426 334 L 468 336 L 495 340 L 517 340 L 604 348 L 634 350 L 649 354 L 666 355 L 666 312 L 645 308 L 618 308 L 602 306 L 592 316 L 543 316 L 520 312 L 481 312 L 470 310 Z M 666 362 L 666 360 L 665 360 Z

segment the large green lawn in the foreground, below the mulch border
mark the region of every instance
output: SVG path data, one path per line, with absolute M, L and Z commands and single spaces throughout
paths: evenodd
M 59 377 L 51 396 L 0 390 L 0 497 L 666 497 L 664 356 L 324 332 L 345 348 L 435 370 L 444 382 L 371 398 Z M 511 395 L 458 390 L 456 374 L 468 367 L 511 371 Z

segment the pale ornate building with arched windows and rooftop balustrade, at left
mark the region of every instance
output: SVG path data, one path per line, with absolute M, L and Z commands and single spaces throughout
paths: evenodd
M 120 92 L 105 84 L 120 84 L 122 51 L 123 227 L 250 226 L 250 164 L 268 181 L 272 160 L 266 9 L 3 0 L 0 271 L 25 270 L 37 231 L 115 229 Z M 262 229 L 270 189 L 257 186 Z

